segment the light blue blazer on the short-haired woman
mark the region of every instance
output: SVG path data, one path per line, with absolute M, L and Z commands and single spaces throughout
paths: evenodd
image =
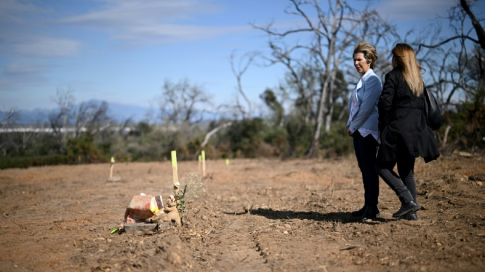
M 350 132 L 354 133 L 359 128 L 378 131 L 379 112 L 377 110 L 377 102 L 382 92 L 382 83 L 379 77 L 376 76 L 374 70 L 369 69 L 360 78 L 356 88 L 359 108 L 347 122 L 347 126 L 350 126 Z M 349 112 L 351 112 L 351 107 L 352 99 L 349 100 Z

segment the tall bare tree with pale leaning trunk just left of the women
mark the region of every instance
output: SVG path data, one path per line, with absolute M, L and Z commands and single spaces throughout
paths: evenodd
M 283 63 L 288 67 L 287 64 L 298 59 L 302 51 L 303 54 L 306 52 L 308 56 L 312 54 L 316 56 L 318 61 L 316 67 L 319 67 L 321 72 L 321 84 L 318 90 L 317 117 L 313 138 L 307 152 L 309 157 L 313 157 L 318 150 L 320 134 L 325 121 L 328 122 L 325 130 L 330 129 L 331 107 L 333 106 L 330 97 L 333 97 L 337 68 L 349 56 L 351 57 L 352 52 L 349 49 L 362 40 L 369 40 L 375 45 L 382 41 L 385 42 L 387 36 L 394 34 L 394 29 L 382 20 L 376 11 L 368 8 L 356 11 L 345 1 L 329 0 L 325 7 L 318 0 L 290 0 L 290 2 L 291 5 L 285 10 L 285 13 L 303 19 L 305 27 L 287 31 L 274 30 L 272 24 L 265 27 L 254 27 L 268 34 L 274 63 Z M 310 16 L 311 13 L 316 13 L 316 16 Z M 304 33 L 309 34 L 311 40 L 306 44 L 297 43 L 290 47 L 275 45 L 278 42 L 281 43 L 281 40 L 285 38 L 289 39 L 290 36 Z M 325 116 L 327 118 L 324 118 Z

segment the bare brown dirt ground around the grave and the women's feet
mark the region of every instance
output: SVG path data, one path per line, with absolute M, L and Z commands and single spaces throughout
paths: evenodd
M 198 162 L 179 162 L 179 180 Z M 332 160 L 207 161 L 205 193 L 183 226 L 152 235 L 109 230 L 131 196 L 173 194 L 172 164 L 116 163 L 0 170 L 1 271 L 484 271 L 485 157 L 416 163 L 417 221 L 359 222 L 353 156 Z

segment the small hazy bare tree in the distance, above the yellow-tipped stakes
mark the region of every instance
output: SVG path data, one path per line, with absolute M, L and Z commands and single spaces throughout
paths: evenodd
M 187 79 L 177 84 L 165 80 L 159 101 L 160 117 L 172 125 L 198 123 L 204 113 L 199 107 L 208 103 L 209 97 L 201 86 L 190 85 Z

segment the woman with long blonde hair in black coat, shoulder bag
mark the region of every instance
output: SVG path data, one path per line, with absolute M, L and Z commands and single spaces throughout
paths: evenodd
M 392 54 L 394 69 L 385 75 L 378 102 L 381 144 L 377 172 L 401 201 L 393 217 L 416 220 L 421 206 L 416 200 L 415 160 L 421 156 L 429 162 L 440 153 L 426 125 L 422 68 L 415 52 L 408 44 L 398 43 Z M 396 164 L 399 175 L 393 170 Z

